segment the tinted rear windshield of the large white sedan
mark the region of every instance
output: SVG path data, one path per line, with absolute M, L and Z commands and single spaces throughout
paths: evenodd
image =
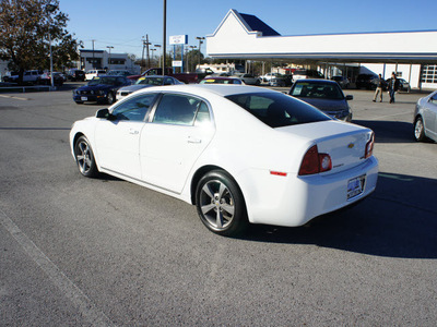
M 226 98 L 271 128 L 331 120 L 315 107 L 281 93 L 251 93 Z

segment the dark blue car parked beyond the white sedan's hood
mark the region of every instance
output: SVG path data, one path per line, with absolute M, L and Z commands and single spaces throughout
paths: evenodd
M 125 76 L 97 76 L 87 85 L 74 89 L 73 100 L 78 105 L 85 101 L 111 105 L 116 101 L 117 90 L 130 84 L 131 82 Z

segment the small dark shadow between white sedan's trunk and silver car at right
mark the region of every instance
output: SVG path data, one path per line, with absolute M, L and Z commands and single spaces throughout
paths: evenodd
M 375 132 L 376 143 L 414 143 L 413 123 L 402 121 L 353 120 Z

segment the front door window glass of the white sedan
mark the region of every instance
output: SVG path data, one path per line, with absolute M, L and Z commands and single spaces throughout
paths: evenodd
M 146 94 L 127 100 L 113 110 L 116 120 L 143 121 L 156 94 Z

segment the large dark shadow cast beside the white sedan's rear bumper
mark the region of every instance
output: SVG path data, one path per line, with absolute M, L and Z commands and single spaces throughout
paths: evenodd
M 298 228 L 250 227 L 256 242 L 315 244 L 362 254 L 437 258 L 436 179 L 379 173 L 369 198 Z

